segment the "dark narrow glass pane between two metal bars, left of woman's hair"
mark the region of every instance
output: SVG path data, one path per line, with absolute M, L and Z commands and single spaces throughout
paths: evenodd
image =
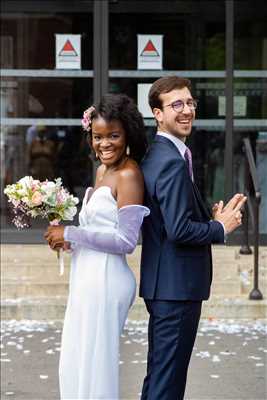
M 1 116 L 81 118 L 93 102 L 93 80 L 82 78 L 3 78 Z

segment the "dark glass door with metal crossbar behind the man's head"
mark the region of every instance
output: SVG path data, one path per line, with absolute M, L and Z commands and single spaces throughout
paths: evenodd
M 152 4 L 153 3 L 153 4 Z M 126 92 L 138 101 L 138 84 L 164 75 L 186 76 L 199 100 L 189 145 L 195 176 L 207 203 L 224 195 L 225 2 L 143 1 L 110 4 L 110 90 Z M 163 36 L 162 70 L 138 69 L 138 35 Z M 215 56 L 216 55 L 216 56 Z M 147 134 L 155 134 L 146 118 Z

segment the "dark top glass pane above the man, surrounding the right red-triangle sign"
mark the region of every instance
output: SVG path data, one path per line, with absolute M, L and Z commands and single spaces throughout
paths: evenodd
M 137 34 L 163 35 L 163 69 L 225 68 L 224 1 L 129 2 L 126 13 L 127 3 L 110 4 L 111 69 L 137 68 Z

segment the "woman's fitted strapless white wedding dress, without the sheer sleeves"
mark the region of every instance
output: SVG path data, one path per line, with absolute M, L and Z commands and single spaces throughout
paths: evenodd
M 80 226 L 109 232 L 117 224 L 116 200 L 108 186 L 91 191 Z M 119 398 L 119 339 L 135 292 L 125 255 L 75 245 L 59 364 L 61 399 Z

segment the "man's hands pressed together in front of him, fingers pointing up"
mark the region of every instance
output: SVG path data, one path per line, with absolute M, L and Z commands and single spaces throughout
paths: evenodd
M 243 194 L 237 193 L 231 200 L 223 206 L 223 201 L 213 206 L 213 218 L 215 221 L 223 223 L 226 233 L 230 233 L 242 224 L 241 208 L 247 198 Z

